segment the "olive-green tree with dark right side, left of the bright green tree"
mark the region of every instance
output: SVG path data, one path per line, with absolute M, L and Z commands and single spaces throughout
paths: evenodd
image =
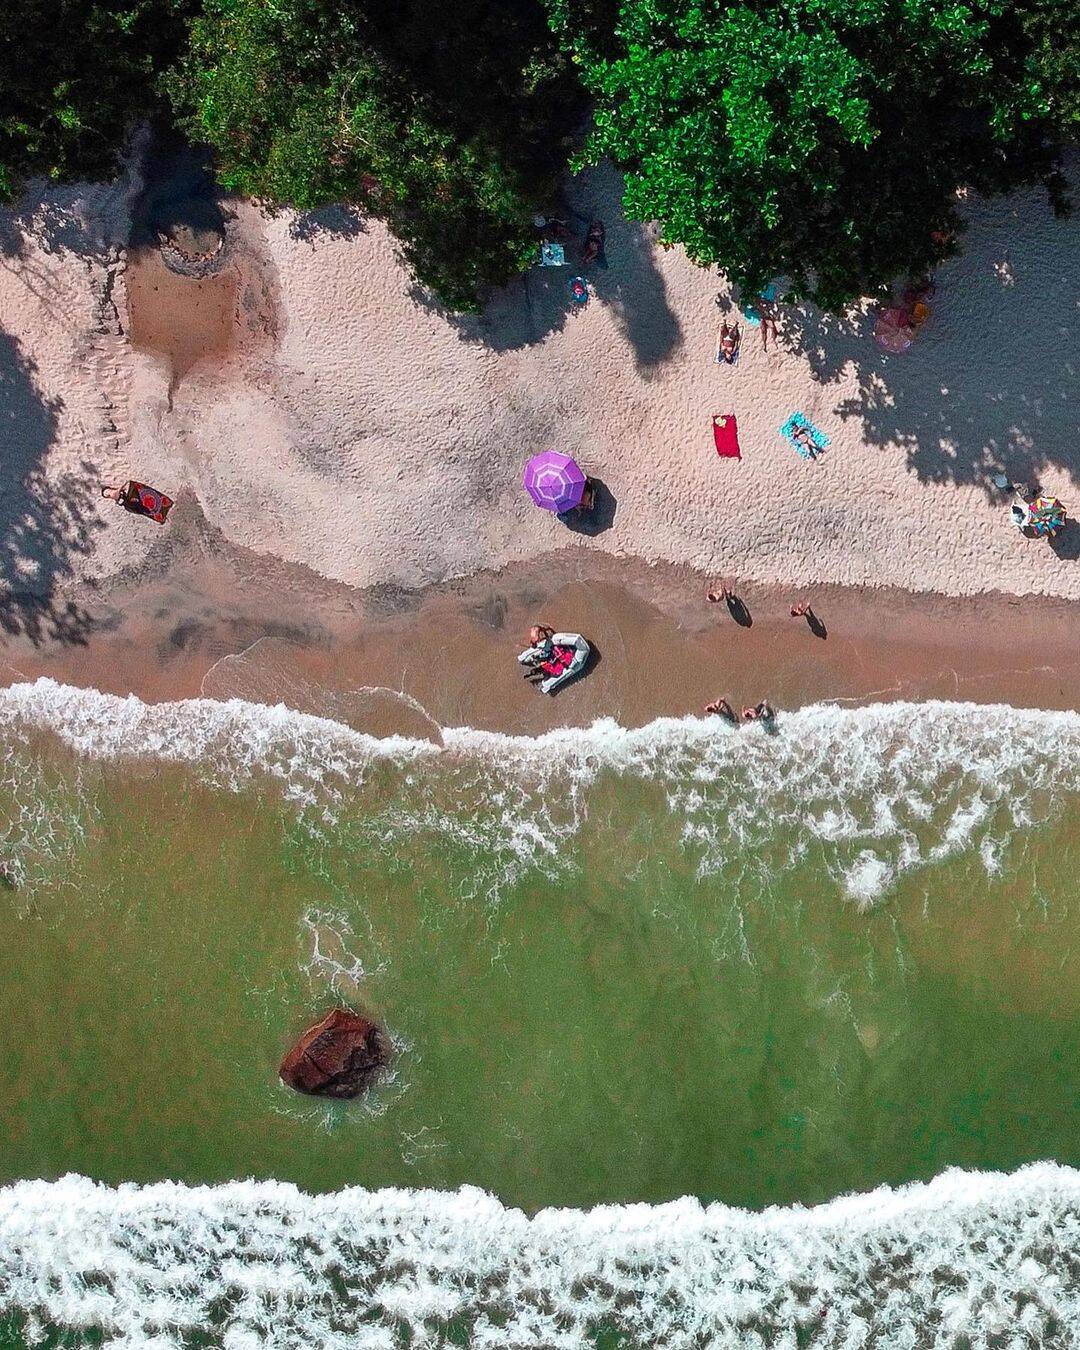
M 582 103 L 539 0 L 211 0 L 171 93 L 227 186 L 379 213 L 454 309 L 533 259 Z

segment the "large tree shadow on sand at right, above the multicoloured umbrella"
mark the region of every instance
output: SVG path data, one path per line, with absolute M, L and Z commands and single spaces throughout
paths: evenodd
M 909 351 L 882 351 L 872 315 L 813 308 L 786 316 L 782 342 L 822 383 L 853 370 L 837 414 L 873 446 L 899 444 L 922 482 L 979 485 L 990 500 L 999 471 L 1034 487 L 1056 468 L 1080 485 L 1080 217 L 1054 219 L 1038 192 L 971 216 Z

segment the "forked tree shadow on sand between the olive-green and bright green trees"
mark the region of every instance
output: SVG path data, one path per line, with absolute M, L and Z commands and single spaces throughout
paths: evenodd
M 589 304 L 614 312 L 637 370 L 648 373 L 680 346 L 682 329 L 667 302 L 649 231 L 626 220 L 621 198 L 622 178 L 609 165 L 574 178 L 566 202 L 556 212 L 567 219 L 567 266 L 531 267 L 489 296 L 481 315 L 450 315 L 420 290 L 413 290 L 413 298 L 441 313 L 464 342 L 483 343 L 493 351 L 514 351 L 562 332 L 582 313 L 585 306 L 572 300 L 570 281 L 583 275 L 591 293 Z M 580 247 L 593 220 L 602 220 L 606 230 L 603 256 L 585 266 Z

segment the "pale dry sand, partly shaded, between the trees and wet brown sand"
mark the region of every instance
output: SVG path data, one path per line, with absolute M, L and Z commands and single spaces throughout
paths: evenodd
M 378 223 L 343 212 L 234 205 L 204 282 L 116 247 L 123 184 L 0 219 L 5 587 L 46 603 L 69 578 L 167 567 L 173 524 L 100 510 L 96 479 L 130 471 L 180 495 L 178 526 L 201 512 L 356 586 L 564 544 L 759 582 L 1080 598 L 1080 526 L 1027 541 L 987 481 L 1000 463 L 1080 513 L 1080 217 L 1053 220 L 1038 193 L 972 205 L 905 355 L 865 319 L 788 315 L 779 351 L 744 329 L 730 370 L 713 362 L 717 275 L 625 224 L 613 174 L 576 190 L 608 223 L 589 305 L 571 312 L 570 271 L 537 270 L 464 323 L 413 296 Z M 795 409 L 832 437 L 818 463 L 776 433 Z M 740 463 L 713 451 L 720 412 L 738 416 Z M 548 446 L 614 495 L 598 537 L 525 498 L 521 466 Z

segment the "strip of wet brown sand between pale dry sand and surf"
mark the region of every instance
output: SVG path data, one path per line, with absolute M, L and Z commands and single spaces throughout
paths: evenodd
M 640 726 L 721 697 L 780 711 L 936 698 L 1080 707 L 1080 609 L 1066 601 L 736 579 L 738 624 L 706 602 L 716 578 L 594 551 L 421 590 L 354 590 L 213 533 L 189 525 L 165 567 L 72 591 L 78 641 L 8 636 L 3 683 L 47 675 L 144 702 L 284 702 L 420 737 L 437 734 L 433 724 L 525 736 L 602 717 Z M 811 602 L 824 636 L 790 617 L 795 599 Z M 533 621 L 582 632 L 597 651 L 555 697 L 514 660 Z

